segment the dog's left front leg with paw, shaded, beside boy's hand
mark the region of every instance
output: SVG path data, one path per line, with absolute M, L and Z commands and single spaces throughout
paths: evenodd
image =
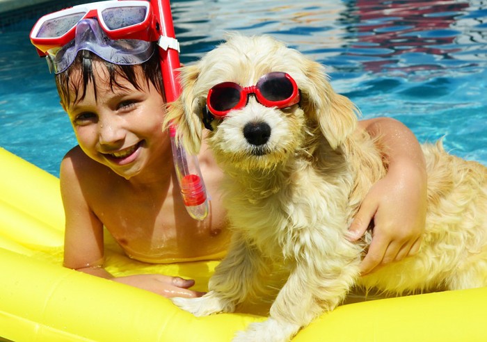
M 233 312 L 264 272 L 266 265 L 260 252 L 240 234 L 234 234 L 227 256 L 209 279 L 209 292 L 200 298 L 173 298 L 173 302 L 195 316 Z

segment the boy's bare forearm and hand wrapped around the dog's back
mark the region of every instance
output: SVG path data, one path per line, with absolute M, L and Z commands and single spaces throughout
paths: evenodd
M 365 275 L 419 250 L 426 222 L 426 162 L 413 132 L 401 122 L 381 117 L 363 120 L 359 126 L 380 139 L 389 165 L 349 228 L 351 241 L 356 241 L 374 220 L 372 243 L 360 266 Z

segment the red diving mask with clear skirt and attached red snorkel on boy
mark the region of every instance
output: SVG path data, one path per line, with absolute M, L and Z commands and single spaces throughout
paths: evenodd
M 30 37 L 39 56 L 47 57 L 50 70 L 56 74 L 65 71 L 83 50 L 110 63 L 138 65 L 152 56 L 153 42 L 157 42 L 166 101 L 175 101 L 181 92 L 175 71 L 180 66 L 179 43 L 168 0 L 99 1 L 74 6 L 41 17 Z M 186 210 L 195 220 L 204 220 L 208 201 L 198 158 L 187 155 L 182 145 L 176 144 L 175 127 L 170 127 L 170 141 Z

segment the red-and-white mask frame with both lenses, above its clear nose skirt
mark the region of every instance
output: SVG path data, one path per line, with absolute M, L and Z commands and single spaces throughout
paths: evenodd
M 31 31 L 31 42 L 40 56 L 74 39 L 81 19 L 96 18 L 111 40 L 156 41 L 157 33 L 150 2 L 141 0 L 99 1 L 74 6 L 41 17 Z

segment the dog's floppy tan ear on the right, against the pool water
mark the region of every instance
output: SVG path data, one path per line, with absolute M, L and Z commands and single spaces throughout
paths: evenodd
M 356 129 L 358 109 L 331 88 L 323 65 L 306 60 L 303 67 L 309 83 L 301 89 L 301 107 L 305 115 L 318 123 L 321 133 L 336 149 Z

